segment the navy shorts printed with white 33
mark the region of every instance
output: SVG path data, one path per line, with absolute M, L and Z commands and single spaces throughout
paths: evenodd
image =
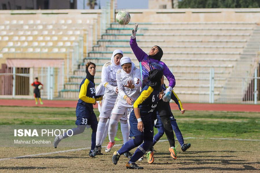
M 77 104 L 76 116 L 76 125 L 86 125 L 87 128 L 91 127 L 91 129 L 93 129 L 93 127 L 97 127 L 98 121 L 96 114 L 94 112 L 90 112 L 86 106 Z

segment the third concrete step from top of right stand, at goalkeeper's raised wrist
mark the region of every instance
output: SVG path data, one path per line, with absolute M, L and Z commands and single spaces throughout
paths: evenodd
M 108 39 L 130 39 L 131 34 L 102 34 L 102 39 L 108 40 Z M 198 34 L 137 34 L 137 39 L 139 40 L 184 40 L 184 39 L 190 39 L 190 40 L 198 40 L 198 39 L 205 39 L 205 40 L 244 40 L 247 39 L 250 36 L 249 33 L 246 34 L 215 34 L 215 33 L 198 33 Z

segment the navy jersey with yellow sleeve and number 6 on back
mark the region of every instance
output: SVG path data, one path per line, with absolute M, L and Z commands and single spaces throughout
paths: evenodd
M 134 108 L 140 108 L 142 118 L 151 118 L 151 114 L 159 101 L 159 93 L 160 91 L 153 89 L 151 86 L 143 87 L 140 96 L 134 102 Z

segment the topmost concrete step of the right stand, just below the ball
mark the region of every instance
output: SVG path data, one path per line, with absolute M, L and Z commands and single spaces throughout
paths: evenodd
M 245 27 L 255 27 L 256 22 L 140 22 L 138 27 L 140 28 L 196 28 L 196 27 L 205 27 L 205 28 L 245 28 Z M 128 23 L 127 25 L 119 25 L 118 23 L 111 23 L 111 28 L 134 28 L 135 23 Z

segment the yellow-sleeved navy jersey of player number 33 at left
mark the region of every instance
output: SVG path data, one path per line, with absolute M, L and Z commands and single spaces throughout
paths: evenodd
M 93 103 L 95 101 L 102 100 L 102 97 L 96 98 L 95 84 L 88 80 L 87 78 L 83 79 L 80 84 L 80 94 L 78 104 L 83 104 L 93 111 Z

